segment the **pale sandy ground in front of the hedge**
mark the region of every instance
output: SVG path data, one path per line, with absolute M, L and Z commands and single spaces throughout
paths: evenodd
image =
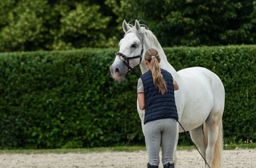
M 256 150 L 224 150 L 224 168 L 255 168 Z M 178 164 L 181 168 L 204 167 L 197 150 L 179 150 Z M 138 152 L 91 152 L 47 154 L 0 154 L 0 168 L 141 168 L 146 167 L 146 151 Z M 159 164 L 159 168 L 162 164 Z

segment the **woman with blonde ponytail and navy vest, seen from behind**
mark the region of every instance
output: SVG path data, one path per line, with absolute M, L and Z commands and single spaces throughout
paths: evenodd
M 170 72 L 161 69 L 157 50 L 146 51 L 148 72 L 138 80 L 138 103 L 145 110 L 145 141 L 148 152 L 148 168 L 159 165 L 159 148 L 162 147 L 164 168 L 174 168 L 173 150 L 176 140 L 178 113 L 174 91 L 178 84 Z

